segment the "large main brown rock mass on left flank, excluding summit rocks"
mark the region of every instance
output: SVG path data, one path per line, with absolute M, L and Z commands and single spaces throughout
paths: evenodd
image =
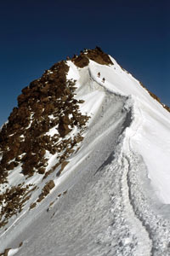
M 18 107 L 0 131 L 0 151 L 3 152 L 0 183 L 5 182 L 9 170 L 20 164 L 24 175 L 43 174 L 48 160 L 46 151 L 55 154 L 68 146 L 58 145 L 57 137 L 48 137 L 45 133 L 58 125 L 56 133 L 64 138 L 74 125 L 82 125 L 82 121 L 76 121 L 76 116 L 81 116 L 78 111 L 81 102 L 74 100 L 76 81 L 66 80 L 68 71 L 66 62 L 60 61 L 22 90 Z M 75 118 L 69 119 L 72 112 Z M 54 118 L 50 119 L 50 115 Z M 87 120 L 86 117 L 84 124 Z

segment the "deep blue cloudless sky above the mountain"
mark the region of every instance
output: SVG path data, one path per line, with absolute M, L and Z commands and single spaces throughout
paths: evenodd
M 0 125 L 54 62 L 99 45 L 170 105 L 170 1 L 0 0 Z

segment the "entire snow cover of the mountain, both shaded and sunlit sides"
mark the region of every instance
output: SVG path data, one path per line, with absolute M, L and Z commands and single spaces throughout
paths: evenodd
M 67 79 L 77 80 L 76 97 L 85 101 L 80 110 L 91 117 L 82 146 L 61 177 L 48 177 L 55 182 L 51 194 L 1 231 L 0 252 L 170 255 L 170 114 L 111 60 L 112 66 L 90 61 L 84 68 L 67 61 Z

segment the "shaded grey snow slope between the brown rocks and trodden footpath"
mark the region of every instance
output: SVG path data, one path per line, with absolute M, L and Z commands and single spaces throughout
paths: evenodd
M 82 155 L 86 157 L 65 179 L 65 186 L 73 180 L 74 185 L 48 213 L 43 212 L 41 218 L 37 213 L 26 232 L 21 232 L 19 237 L 24 240 L 27 233 L 31 237 L 18 255 L 150 255 L 148 233 L 128 198 L 122 132 L 132 116 L 131 109 L 124 108 L 126 101 L 114 94 L 105 96 L 101 105 L 105 118 L 100 111 L 96 114 L 77 162 Z M 94 133 L 100 136 L 95 143 Z M 51 195 L 50 201 L 57 194 Z M 19 243 L 19 237 L 14 244 Z

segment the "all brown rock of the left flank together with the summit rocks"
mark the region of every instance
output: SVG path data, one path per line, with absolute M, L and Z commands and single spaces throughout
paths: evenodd
M 75 55 L 69 61 L 82 68 L 88 66 L 89 60 L 112 64 L 109 56 L 99 47 Z M 76 152 L 74 147 L 82 142 L 82 132 L 89 117 L 79 111 L 79 104 L 84 101 L 74 98 L 77 81 L 66 79 L 68 71 L 67 62 L 59 61 L 18 96 L 18 106 L 0 131 L 0 184 L 8 183 L 8 172 L 15 172 L 17 166 L 28 179 L 35 173 L 46 179 L 54 171 L 59 176 L 68 164 L 68 157 Z M 70 136 L 75 126 L 78 134 Z M 49 135 L 50 129 L 56 131 L 54 136 Z M 56 162 L 47 172 L 47 155 L 50 154 L 55 154 Z M 37 202 L 42 201 L 53 188 L 54 181 L 50 180 L 43 187 Z M 0 209 L 0 228 L 7 224 L 8 218 L 22 211 L 31 197 L 31 191 L 29 186 L 20 184 L 0 192 L 0 204 L 3 206 Z M 36 204 L 33 203 L 30 208 L 36 207 Z

